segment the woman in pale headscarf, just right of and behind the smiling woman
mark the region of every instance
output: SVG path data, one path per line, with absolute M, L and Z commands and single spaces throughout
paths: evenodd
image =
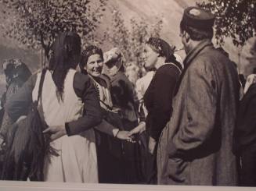
M 110 94 L 114 108 L 120 108 L 121 122 L 124 130 L 130 131 L 138 126 L 138 113 L 135 104 L 135 90 L 124 75 L 124 55 L 118 48 L 104 53 L 103 74 L 110 78 Z M 141 157 L 139 143 L 122 141 L 121 182 L 142 182 Z

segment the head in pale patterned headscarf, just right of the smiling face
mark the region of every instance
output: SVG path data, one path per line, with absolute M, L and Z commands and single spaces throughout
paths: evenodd
M 125 58 L 119 48 L 112 48 L 104 52 L 103 73 L 107 76 L 114 76 L 124 65 Z

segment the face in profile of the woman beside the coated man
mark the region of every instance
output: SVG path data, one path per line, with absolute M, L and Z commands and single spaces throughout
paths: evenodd
M 159 54 L 150 47 L 149 44 L 145 44 L 143 60 L 145 62 L 144 67 L 146 69 L 153 69 L 157 63 Z

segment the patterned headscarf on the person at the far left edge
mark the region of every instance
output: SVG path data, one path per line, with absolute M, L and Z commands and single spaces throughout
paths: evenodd
M 17 58 L 6 59 L 2 68 L 5 73 L 7 87 L 13 82 L 21 86 L 31 76 L 31 71 L 27 68 L 27 65 Z

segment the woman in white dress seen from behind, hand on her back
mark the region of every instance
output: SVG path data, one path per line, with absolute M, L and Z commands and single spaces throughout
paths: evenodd
M 44 181 L 98 182 L 96 138 L 92 127 L 102 115 L 92 80 L 75 69 L 81 55 L 81 39 L 74 32 L 58 35 L 52 45 L 38 111 L 48 125 L 51 147 L 56 154 L 45 157 Z M 31 77 L 7 103 L 13 121 L 26 115 L 37 100 L 41 73 Z

